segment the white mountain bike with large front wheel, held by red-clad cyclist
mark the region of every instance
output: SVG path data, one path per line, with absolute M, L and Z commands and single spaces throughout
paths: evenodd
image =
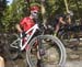
M 30 67 L 65 65 L 66 48 L 63 44 L 58 37 L 45 34 L 43 25 L 36 23 L 25 34 L 27 35 L 23 37 L 20 33 L 20 36 L 14 36 L 16 40 L 9 44 L 8 54 L 11 58 L 16 58 L 17 54 L 22 54 L 21 52 L 26 48 L 26 60 Z M 12 54 L 10 48 L 14 48 L 16 54 Z

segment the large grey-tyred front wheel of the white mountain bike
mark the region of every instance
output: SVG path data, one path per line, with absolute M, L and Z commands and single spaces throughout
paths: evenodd
M 66 49 L 58 37 L 54 37 L 51 35 L 39 35 L 37 37 L 34 37 L 28 45 L 30 49 L 26 51 L 26 59 L 30 67 L 38 67 L 37 53 L 39 48 L 37 48 L 37 46 L 39 45 L 42 45 L 42 49 L 44 51 L 43 55 L 39 54 L 40 60 L 43 63 L 43 66 L 40 67 L 55 67 L 65 65 Z

